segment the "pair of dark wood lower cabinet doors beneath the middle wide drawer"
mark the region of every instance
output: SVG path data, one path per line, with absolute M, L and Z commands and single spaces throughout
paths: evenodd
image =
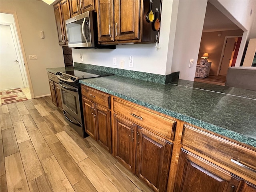
M 166 191 L 172 143 L 114 114 L 115 156 L 154 191 Z

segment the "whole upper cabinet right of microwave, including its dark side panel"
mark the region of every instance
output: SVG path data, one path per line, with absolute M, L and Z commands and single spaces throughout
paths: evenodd
M 153 0 L 152 11 L 161 12 L 161 0 Z M 147 0 L 96 0 L 98 41 L 100 44 L 155 43 L 158 31 L 146 22 Z M 160 13 L 159 13 L 160 19 Z

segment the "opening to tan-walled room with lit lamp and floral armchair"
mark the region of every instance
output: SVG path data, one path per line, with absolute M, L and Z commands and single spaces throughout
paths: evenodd
M 210 64 L 196 66 L 194 81 L 225 86 L 228 68 L 236 64 L 243 34 L 244 30 L 208 1 L 197 64 L 204 53 L 208 53 Z M 204 78 L 199 78 L 198 73 Z

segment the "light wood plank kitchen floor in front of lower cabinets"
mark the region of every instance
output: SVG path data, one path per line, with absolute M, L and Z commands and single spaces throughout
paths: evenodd
M 150 192 L 92 138 L 81 138 L 50 97 L 0 106 L 1 192 Z

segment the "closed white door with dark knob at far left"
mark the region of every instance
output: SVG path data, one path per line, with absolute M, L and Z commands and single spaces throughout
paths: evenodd
M 0 25 L 0 90 L 22 88 L 24 81 L 10 25 Z

